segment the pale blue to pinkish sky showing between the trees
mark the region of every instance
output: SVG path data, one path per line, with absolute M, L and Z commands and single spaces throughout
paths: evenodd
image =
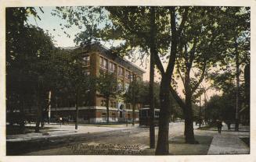
M 68 48 L 68 47 L 74 47 L 76 44 L 74 43 L 75 34 L 82 31 L 82 29 L 79 29 L 78 26 L 71 26 L 70 29 L 65 29 L 65 31 L 70 35 L 70 37 L 67 37 L 65 33 L 63 33 L 63 30 L 61 29 L 62 26 L 59 26 L 59 24 L 65 24 L 67 23 L 66 20 L 63 20 L 59 18 L 58 16 L 52 16 L 51 12 L 55 7 L 43 7 L 43 12 L 40 11 L 40 9 L 36 8 L 38 11 L 38 16 L 40 16 L 41 20 L 34 19 L 34 16 L 29 16 L 27 23 L 32 24 L 34 26 L 38 26 L 41 29 L 49 32 L 53 40 L 55 41 L 56 47 L 61 48 Z M 107 44 L 105 44 L 107 47 Z M 141 65 L 140 60 L 137 60 L 136 62 L 129 60 L 128 58 L 125 58 L 128 61 L 131 61 L 135 65 L 138 65 L 139 68 L 146 71 L 146 73 L 143 75 L 143 80 L 149 80 L 150 79 L 150 57 L 147 58 L 147 63 L 144 62 Z M 146 58 L 145 58 L 146 59 Z M 167 67 L 167 63 L 164 64 L 164 67 Z M 155 74 L 155 81 L 160 82 L 160 75 Z M 207 87 L 209 86 L 208 83 L 202 83 L 201 86 Z M 184 89 L 184 86 L 182 82 L 178 81 L 178 94 L 184 97 L 182 90 Z M 220 92 L 215 90 L 207 90 L 207 100 L 214 94 L 220 94 Z M 202 96 L 204 97 L 204 96 Z

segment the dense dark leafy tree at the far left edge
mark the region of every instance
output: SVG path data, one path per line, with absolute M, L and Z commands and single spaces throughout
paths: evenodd
M 49 55 L 54 46 L 48 33 L 36 26 L 25 25 L 30 14 L 38 17 L 32 7 L 6 9 L 6 95 L 7 106 L 10 106 L 9 102 L 13 103 L 13 94 L 16 93 L 16 102 L 19 103 L 16 106 L 22 116 L 24 107 L 31 106 L 26 105 L 27 101 L 34 98 L 30 104 L 38 107 L 35 127 L 38 132 L 41 111 L 45 107 L 45 91 L 51 83 L 46 72 L 50 69 Z M 23 117 L 22 122 L 24 120 Z

